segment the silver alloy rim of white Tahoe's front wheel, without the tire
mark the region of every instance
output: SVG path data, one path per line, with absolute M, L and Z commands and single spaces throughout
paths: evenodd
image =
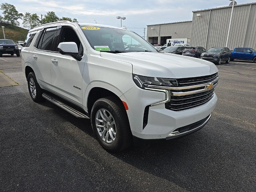
M 95 124 L 101 139 L 105 143 L 113 143 L 116 139 L 116 124 L 111 113 L 106 109 L 99 109 L 95 116 Z

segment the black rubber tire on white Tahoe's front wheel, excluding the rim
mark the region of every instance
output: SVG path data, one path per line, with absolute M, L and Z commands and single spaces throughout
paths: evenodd
M 115 121 L 115 140 L 112 143 L 106 143 L 100 136 L 96 127 L 96 115 L 100 109 L 106 109 Z M 107 112 L 107 113 L 108 113 Z M 95 136 L 101 146 L 112 153 L 120 152 L 132 144 L 132 133 L 127 115 L 120 107 L 120 102 L 114 97 L 101 98 L 95 101 L 91 110 L 91 125 Z M 109 121 L 109 120 L 108 120 Z M 102 132 L 101 132 L 102 133 Z

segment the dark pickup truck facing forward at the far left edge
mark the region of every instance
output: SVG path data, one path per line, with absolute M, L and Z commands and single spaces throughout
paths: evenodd
M 0 57 L 3 57 L 3 54 L 16 54 L 19 57 L 18 45 L 15 45 L 11 39 L 0 39 Z

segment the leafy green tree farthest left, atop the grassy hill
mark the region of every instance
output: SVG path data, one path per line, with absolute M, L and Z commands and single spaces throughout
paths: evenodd
M 18 19 L 22 19 L 23 14 L 19 13 L 16 7 L 9 3 L 2 3 L 0 9 L 3 10 L 3 19 L 11 25 L 18 26 Z

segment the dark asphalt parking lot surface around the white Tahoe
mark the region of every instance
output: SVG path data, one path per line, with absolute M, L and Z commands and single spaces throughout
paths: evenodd
M 90 120 L 31 100 L 21 58 L 0 70 L 0 191 L 256 191 L 256 64 L 222 63 L 218 103 L 200 131 L 147 150 L 103 150 Z

